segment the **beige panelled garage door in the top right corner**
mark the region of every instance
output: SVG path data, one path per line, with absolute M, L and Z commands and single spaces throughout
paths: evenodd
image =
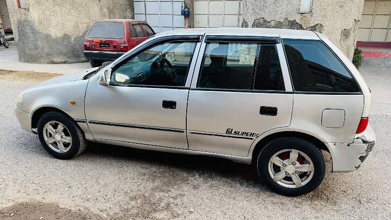
M 358 41 L 391 42 L 391 0 L 366 0 Z

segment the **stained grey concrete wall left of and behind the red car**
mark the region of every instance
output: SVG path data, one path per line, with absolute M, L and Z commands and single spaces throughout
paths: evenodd
M 19 60 L 26 63 L 85 61 L 83 40 L 96 20 L 134 18 L 133 0 L 6 0 Z

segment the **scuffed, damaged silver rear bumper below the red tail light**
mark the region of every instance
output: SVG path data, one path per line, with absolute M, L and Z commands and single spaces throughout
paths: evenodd
M 372 151 L 376 141 L 373 129 L 367 129 L 354 136 L 353 143 L 326 143 L 331 154 L 332 172 L 352 172 L 360 168 L 361 163 Z

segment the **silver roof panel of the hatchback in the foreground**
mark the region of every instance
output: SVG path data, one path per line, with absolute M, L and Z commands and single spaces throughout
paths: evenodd
M 314 31 L 278 29 L 278 28 L 241 28 L 241 27 L 219 27 L 219 28 L 188 28 L 173 31 L 166 31 L 157 35 L 234 35 L 234 36 L 270 36 L 293 39 L 319 39 Z

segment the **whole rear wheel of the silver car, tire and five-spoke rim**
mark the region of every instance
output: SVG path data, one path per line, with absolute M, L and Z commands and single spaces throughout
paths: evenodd
M 300 196 L 316 189 L 325 176 L 326 164 L 320 150 L 300 138 L 279 138 L 266 144 L 258 155 L 261 179 L 273 191 Z

